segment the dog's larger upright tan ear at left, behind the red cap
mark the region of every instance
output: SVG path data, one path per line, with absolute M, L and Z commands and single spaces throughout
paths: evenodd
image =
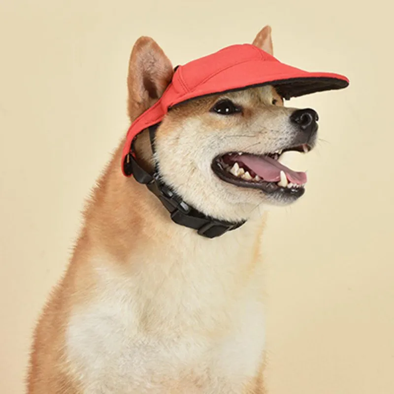
M 127 77 L 131 122 L 163 95 L 172 74 L 171 62 L 160 46 L 150 37 L 140 37 L 131 51 Z

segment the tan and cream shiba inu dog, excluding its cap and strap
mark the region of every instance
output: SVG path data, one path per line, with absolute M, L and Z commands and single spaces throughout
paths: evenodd
M 271 29 L 252 45 L 272 55 Z M 138 39 L 131 122 L 173 76 L 159 45 Z M 179 103 L 154 142 L 148 129 L 138 134 L 141 168 L 156 171 L 198 218 L 234 224 L 215 237 L 171 221 L 163 200 L 122 174 L 123 140 L 39 319 L 28 392 L 264 393 L 264 207 L 304 193 L 305 173 L 281 160 L 314 147 L 317 122 L 314 110 L 284 107 L 280 89 L 265 84 Z

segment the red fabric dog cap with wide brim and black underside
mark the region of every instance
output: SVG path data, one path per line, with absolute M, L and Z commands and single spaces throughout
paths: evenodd
M 131 153 L 134 137 L 161 122 L 168 110 L 181 102 L 202 96 L 272 85 L 285 99 L 326 90 L 343 89 L 349 80 L 328 72 L 307 72 L 287 66 L 262 49 L 231 45 L 211 55 L 178 66 L 163 96 L 132 124 L 123 149 L 122 170 Z

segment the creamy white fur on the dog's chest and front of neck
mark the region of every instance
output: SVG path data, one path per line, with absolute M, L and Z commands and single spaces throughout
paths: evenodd
M 171 380 L 191 374 L 202 385 L 198 393 L 240 393 L 264 348 L 261 265 L 239 276 L 240 262 L 253 259 L 261 225 L 260 213 L 254 216 L 213 240 L 185 238 L 177 226 L 160 256 L 154 240 L 152 252 L 133 256 L 141 262 L 133 276 L 108 256 L 92 259 L 100 293 L 73 311 L 66 332 L 68 361 L 83 376 L 84 393 L 177 393 Z

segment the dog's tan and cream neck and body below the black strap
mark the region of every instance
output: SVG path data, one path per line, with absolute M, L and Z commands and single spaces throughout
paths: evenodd
M 213 240 L 198 236 L 173 224 L 155 196 L 123 177 L 117 159 L 86 211 L 72 262 L 38 328 L 48 336 L 37 344 L 42 382 L 57 370 L 81 388 L 76 393 L 258 387 L 261 217 Z

